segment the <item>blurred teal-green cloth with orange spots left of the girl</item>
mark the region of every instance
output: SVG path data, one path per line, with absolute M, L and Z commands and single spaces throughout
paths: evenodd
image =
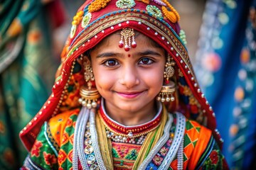
M 26 157 L 18 133 L 50 94 L 57 62 L 38 0 L 0 2 L 0 169 L 18 169 Z M 22 32 L 8 34 L 13 21 Z M 47 86 L 48 85 L 48 86 Z

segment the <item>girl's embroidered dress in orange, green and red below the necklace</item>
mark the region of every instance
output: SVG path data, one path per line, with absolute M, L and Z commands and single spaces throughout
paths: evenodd
M 82 110 L 79 111 L 76 109 L 74 111 L 61 113 L 60 115 L 51 118 L 49 122 L 44 123 L 29 156 L 26 158 L 24 168 L 72 168 L 75 124 L 79 121 L 78 113 L 85 114 L 82 113 Z M 183 167 L 183 169 L 225 168 L 225 159 L 210 130 L 204 128 L 193 120 L 187 120 L 181 113 L 170 114 L 163 111 L 161 118 L 163 118 L 164 115 L 168 116 L 164 123 L 164 132 L 167 132 L 166 139 L 163 140 L 164 142 L 161 142 L 160 145 L 159 143 L 156 143 L 156 145 L 149 145 L 146 148 L 146 154 L 142 153 L 146 140 L 152 142 L 158 138 L 156 137 L 156 133 L 163 134 L 164 132 L 158 131 L 160 127 L 153 131 L 155 138 L 146 139 L 143 144 L 115 142 L 111 138 L 107 138 L 107 142 L 98 140 L 99 143 L 102 142 L 100 147 L 102 145 L 109 145 L 108 147 L 110 147 L 111 155 L 109 155 L 109 157 L 112 157 L 113 164 L 111 169 L 139 169 L 142 165 L 144 165 L 144 169 L 178 169 L 178 166 Z M 90 113 L 90 116 L 93 116 L 93 114 Z M 102 121 L 100 113 L 96 113 L 95 119 L 96 122 Z M 97 149 L 92 147 L 92 132 L 89 130 L 90 118 L 87 118 L 87 121 L 88 123 L 87 126 L 85 126 L 85 133 L 79 134 L 82 136 L 82 148 L 76 148 L 78 149 L 78 152 L 82 152 L 78 154 L 78 162 L 80 162 L 78 169 L 84 169 L 85 167 L 87 169 L 92 169 L 93 167 L 97 169 L 100 166 L 100 160 L 97 159 L 97 156 L 95 155 L 95 150 Z M 111 121 L 114 123 L 114 120 Z M 176 139 L 175 136 L 177 130 L 181 130 L 183 133 L 181 137 Z M 97 129 L 96 131 L 99 132 Z M 99 139 L 98 135 L 97 137 Z M 161 139 L 162 138 L 160 137 L 158 140 L 160 141 Z M 180 144 L 181 147 L 178 147 L 178 149 L 173 147 L 175 140 L 183 141 L 183 143 Z M 101 150 L 100 152 L 105 152 L 105 150 Z M 172 161 L 167 164 L 168 166 L 163 166 L 163 164 L 167 162 L 166 157 L 169 157 L 170 153 L 172 154 Z M 181 154 L 181 158 L 179 157 L 179 154 Z M 143 162 L 140 166 L 136 166 L 139 157 L 146 157 L 149 159 L 146 159 L 146 162 Z M 180 159 L 183 159 L 182 164 L 179 163 L 181 161 Z M 81 163 L 82 160 L 85 160 L 85 167 L 82 165 L 83 163 Z M 105 167 L 105 169 L 108 168 Z

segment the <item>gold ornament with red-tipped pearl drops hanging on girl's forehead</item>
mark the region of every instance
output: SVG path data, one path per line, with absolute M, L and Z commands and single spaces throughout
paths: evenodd
M 119 41 L 119 47 L 124 47 L 125 51 L 129 51 L 131 47 L 137 47 L 137 43 L 134 40 L 134 35 L 135 33 L 133 28 L 123 28 L 121 30 L 121 40 Z

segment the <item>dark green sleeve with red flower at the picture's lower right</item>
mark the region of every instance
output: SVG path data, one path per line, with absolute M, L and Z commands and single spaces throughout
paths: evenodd
M 196 169 L 229 169 L 225 157 L 220 151 L 217 142 L 213 139 L 213 136 L 208 142 L 208 147 L 206 147 L 206 150 L 201 155 Z

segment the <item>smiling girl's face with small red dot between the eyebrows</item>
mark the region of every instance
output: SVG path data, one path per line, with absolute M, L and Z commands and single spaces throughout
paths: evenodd
M 90 53 L 95 83 L 107 111 L 137 113 L 154 108 L 164 80 L 165 52 L 142 33 L 126 52 L 114 33 Z

